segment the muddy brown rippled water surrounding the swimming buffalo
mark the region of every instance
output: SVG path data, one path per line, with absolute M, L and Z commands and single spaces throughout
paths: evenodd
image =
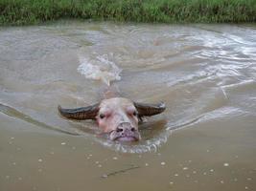
M 0 190 L 255 190 L 256 26 L 61 21 L 0 28 Z M 110 85 L 166 102 L 142 140 L 57 106 Z

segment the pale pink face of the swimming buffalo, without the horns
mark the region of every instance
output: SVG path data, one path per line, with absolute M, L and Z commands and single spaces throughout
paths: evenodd
M 103 100 L 96 119 L 98 126 L 105 133 L 109 133 L 111 140 L 140 139 L 137 110 L 133 102 L 127 98 L 114 97 Z

